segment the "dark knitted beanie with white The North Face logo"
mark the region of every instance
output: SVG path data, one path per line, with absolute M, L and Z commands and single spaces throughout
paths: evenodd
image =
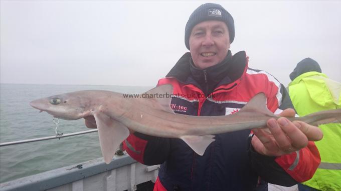
M 233 42 L 235 31 L 234 20 L 231 14 L 220 4 L 205 3 L 195 9 L 187 21 L 185 27 L 185 44 L 188 49 L 190 49 L 190 35 L 193 27 L 199 22 L 206 20 L 221 20 L 225 22 L 229 29 L 230 42 Z

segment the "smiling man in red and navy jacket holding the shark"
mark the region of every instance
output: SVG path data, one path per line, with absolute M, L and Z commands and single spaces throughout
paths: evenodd
M 234 20 L 221 5 L 206 3 L 190 16 L 185 28 L 185 53 L 158 85 L 172 84 L 172 109 L 187 115 L 237 112 L 255 94 L 264 92 L 268 108 L 292 107 L 283 85 L 267 72 L 248 68 L 244 51 L 232 55 Z M 181 108 L 181 109 L 179 109 Z M 293 116 L 287 109 L 281 116 Z M 95 127 L 93 120 L 86 120 Z M 137 161 L 161 164 L 154 190 L 253 190 L 260 178 L 286 186 L 305 181 L 319 164 L 313 142 L 321 131 L 285 117 L 267 121 L 268 130 L 217 134 L 203 156 L 183 140 L 131 132 L 124 148 Z M 303 133 L 303 132 L 304 133 Z

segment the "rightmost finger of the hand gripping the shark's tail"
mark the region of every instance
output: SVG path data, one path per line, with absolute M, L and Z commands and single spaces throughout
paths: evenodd
M 293 124 L 306 135 L 308 140 L 318 141 L 321 140 L 323 137 L 322 130 L 317 126 L 313 126 L 297 120 L 293 121 Z

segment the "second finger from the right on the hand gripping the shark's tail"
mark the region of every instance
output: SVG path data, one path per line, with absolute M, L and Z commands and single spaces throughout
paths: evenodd
M 280 117 L 278 118 L 278 123 L 281 126 L 281 129 L 286 133 L 286 135 L 290 138 L 291 140 L 291 145 L 296 148 L 300 149 L 305 147 L 308 144 L 308 138 L 307 136 L 300 131 L 297 126 L 290 122 L 287 118 L 285 117 Z M 284 149 L 284 150 L 288 150 Z

